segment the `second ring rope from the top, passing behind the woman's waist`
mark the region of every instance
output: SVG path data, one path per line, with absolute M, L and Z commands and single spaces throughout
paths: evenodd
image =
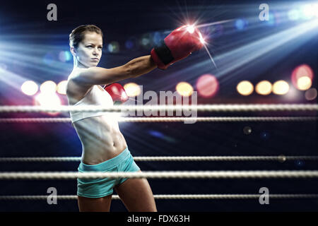
M 318 117 L 118 117 L 123 122 L 170 121 L 317 121 Z M 71 122 L 70 118 L 1 118 L 0 123 Z

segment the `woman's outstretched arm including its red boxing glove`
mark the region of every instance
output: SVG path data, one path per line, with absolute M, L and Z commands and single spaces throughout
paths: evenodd
M 151 50 L 151 55 L 138 57 L 113 69 L 92 67 L 80 69 L 81 72 L 74 76 L 73 81 L 81 85 L 106 85 L 136 78 L 155 69 L 167 69 L 176 61 L 188 57 L 193 51 L 203 47 L 203 38 L 197 28 L 184 25 L 173 30 L 165 37 L 163 42 Z

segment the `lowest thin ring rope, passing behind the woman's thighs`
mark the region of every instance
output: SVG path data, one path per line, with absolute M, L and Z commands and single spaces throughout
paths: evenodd
M 255 199 L 261 194 L 164 194 L 153 195 L 155 199 Z M 47 198 L 57 198 L 59 200 L 77 200 L 77 196 L 0 196 L 0 200 L 47 200 Z M 269 198 L 318 198 L 318 194 L 269 194 Z M 119 200 L 118 195 L 113 195 L 112 199 Z

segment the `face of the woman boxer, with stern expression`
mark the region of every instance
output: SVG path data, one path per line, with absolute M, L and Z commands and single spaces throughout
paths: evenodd
M 78 67 L 90 68 L 97 66 L 102 57 L 102 35 L 96 32 L 86 32 L 82 42 L 75 49 Z

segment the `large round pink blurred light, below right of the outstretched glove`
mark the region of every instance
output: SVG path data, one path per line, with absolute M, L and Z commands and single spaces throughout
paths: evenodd
M 201 97 L 213 97 L 218 92 L 218 79 L 211 74 L 204 74 L 196 81 L 196 90 Z

